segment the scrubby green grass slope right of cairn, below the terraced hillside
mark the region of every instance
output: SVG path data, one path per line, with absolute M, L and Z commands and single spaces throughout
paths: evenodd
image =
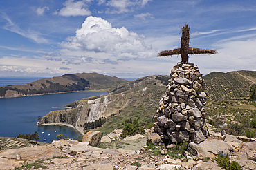
M 256 109 L 246 100 L 214 100 L 208 102 L 206 108 L 206 118 L 215 131 L 225 130 L 235 136 L 256 137 Z

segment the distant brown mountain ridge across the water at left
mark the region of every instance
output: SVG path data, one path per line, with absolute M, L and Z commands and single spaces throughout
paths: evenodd
M 0 97 L 31 96 L 73 91 L 110 92 L 128 81 L 98 73 L 65 74 L 53 78 L 42 78 L 24 85 L 0 87 Z

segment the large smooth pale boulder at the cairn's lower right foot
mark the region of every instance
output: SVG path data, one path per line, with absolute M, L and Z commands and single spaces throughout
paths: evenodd
M 223 140 L 205 140 L 200 144 L 196 144 L 194 142 L 190 142 L 188 145 L 188 151 L 195 155 L 197 158 L 207 158 L 214 159 L 215 156 L 219 153 L 219 151 L 223 151 L 223 153 L 228 153 L 230 147 Z

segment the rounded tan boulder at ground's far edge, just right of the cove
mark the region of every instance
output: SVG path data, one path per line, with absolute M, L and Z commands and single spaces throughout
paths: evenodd
M 84 137 L 82 138 L 82 142 L 89 142 L 89 145 L 93 147 L 100 145 L 100 140 L 100 131 L 89 131 L 86 134 L 84 134 Z

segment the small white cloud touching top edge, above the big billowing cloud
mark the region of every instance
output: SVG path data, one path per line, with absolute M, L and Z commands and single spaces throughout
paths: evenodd
M 89 1 L 87 1 L 89 2 Z M 91 11 L 88 9 L 88 5 L 86 5 L 86 1 L 73 1 L 66 0 L 64 2 L 64 8 L 60 9 L 60 11 L 55 12 L 64 17 L 70 16 L 88 16 L 91 14 Z

